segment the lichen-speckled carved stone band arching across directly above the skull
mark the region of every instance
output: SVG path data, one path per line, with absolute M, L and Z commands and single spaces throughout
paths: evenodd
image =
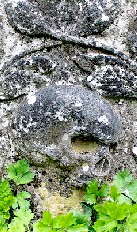
M 13 99 L 49 84 L 84 84 L 103 96 L 137 98 L 137 65 L 128 57 L 83 52 L 59 44 L 15 56 L 1 69 L 0 98 Z

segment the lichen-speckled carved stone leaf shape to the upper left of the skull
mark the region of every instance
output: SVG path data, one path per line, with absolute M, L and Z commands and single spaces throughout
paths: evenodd
M 47 83 L 47 74 L 51 73 L 56 63 L 42 54 L 14 57 L 1 70 L 0 97 L 10 99 L 31 92 Z

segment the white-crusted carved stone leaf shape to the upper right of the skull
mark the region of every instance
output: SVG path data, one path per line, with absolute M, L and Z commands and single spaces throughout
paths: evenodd
M 137 98 L 137 65 L 105 54 L 81 54 L 75 63 L 89 73 L 84 81 L 104 96 Z

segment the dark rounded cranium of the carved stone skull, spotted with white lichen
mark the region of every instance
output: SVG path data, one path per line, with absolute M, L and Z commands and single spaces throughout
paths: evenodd
M 28 95 L 19 105 L 12 127 L 17 151 L 36 163 L 44 165 L 51 159 L 60 166 L 76 167 L 89 162 L 94 169 L 101 154 L 102 159 L 116 143 L 120 122 L 97 93 L 81 86 L 49 86 Z M 96 142 L 96 151 L 76 152 L 72 143 L 77 138 Z

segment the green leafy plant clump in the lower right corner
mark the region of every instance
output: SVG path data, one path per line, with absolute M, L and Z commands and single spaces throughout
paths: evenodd
M 84 199 L 91 209 L 96 232 L 137 231 L 137 180 L 128 170 L 117 173 L 111 184 L 88 184 Z

